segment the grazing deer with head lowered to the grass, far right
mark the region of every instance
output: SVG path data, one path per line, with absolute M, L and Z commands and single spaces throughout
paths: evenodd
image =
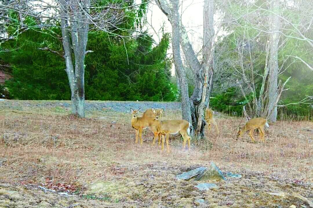
M 252 141 L 254 142 L 253 131 L 254 131 L 254 129 L 257 128 L 259 130 L 259 133 L 260 133 L 261 141 L 265 142 L 264 126 L 266 128 L 269 128 L 269 124 L 267 123 L 266 119 L 263 119 L 263 118 L 251 119 L 244 125 L 244 128 L 241 128 L 241 127 L 239 128 L 239 131 L 238 131 L 236 137 L 240 138 L 244 134 L 244 132 L 249 130 L 249 136 L 252 139 Z

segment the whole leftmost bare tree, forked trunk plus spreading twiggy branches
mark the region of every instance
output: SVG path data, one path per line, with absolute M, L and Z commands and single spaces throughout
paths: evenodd
M 125 10 L 137 5 L 124 6 L 130 2 L 101 4 L 97 0 L 8 0 L 0 2 L 0 18 L 3 24 L 14 25 L 15 32 L 2 32 L 2 42 L 16 38 L 18 34 L 29 28 L 37 29 L 61 27 L 63 51 L 54 51 L 49 47 L 39 50 L 49 51 L 61 56 L 66 64 L 72 100 L 72 113 L 85 117 L 85 55 L 88 32 L 101 30 L 113 33 L 118 25 L 125 21 Z M 14 19 L 10 13 L 16 12 Z M 26 21 L 33 18 L 37 24 Z M 35 29 L 36 29 L 35 28 Z M 53 34 L 56 35 L 57 34 Z M 127 53 L 127 51 L 126 51 Z

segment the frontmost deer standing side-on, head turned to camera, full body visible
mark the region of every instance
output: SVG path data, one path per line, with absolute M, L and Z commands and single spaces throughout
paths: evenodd
M 154 111 L 155 112 L 155 111 Z M 166 146 L 167 146 L 167 152 L 170 152 L 169 148 L 169 135 L 176 135 L 180 133 L 182 135 L 182 138 L 184 139 L 182 148 L 185 149 L 186 141 L 188 141 L 188 150 L 190 150 L 190 131 L 192 129 L 191 123 L 189 123 L 186 120 L 163 120 L 160 121 L 160 115 L 162 112 L 155 112 L 155 119 L 153 122 L 150 123 L 150 126 L 152 128 L 156 128 L 156 131 L 158 133 L 161 133 L 162 135 L 162 145 L 161 150 L 164 150 L 164 142 L 166 138 Z

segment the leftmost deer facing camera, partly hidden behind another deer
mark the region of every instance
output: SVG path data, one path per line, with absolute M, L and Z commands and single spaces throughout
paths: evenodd
M 138 134 L 139 134 L 140 145 L 142 145 L 142 143 L 143 143 L 143 140 L 142 140 L 142 129 L 150 128 L 149 127 L 149 123 L 151 123 L 155 119 L 155 112 L 157 112 L 158 114 L 161 115 L 162 112 L 164 111 L 164 109 L 157 110 L 157 111 L 155 109 L 153 109 L 154 111 L 152 111 L 152 109 L 147 109 L 143 113 L 142 117 L 138 117 L 138 112 L 140 111 L 141 108 L 139 108 L 138 110 L 134 110 L 132 108 L 130 108 L 130 109 L 131 109 L 131 112 L 132 112 L 131 127 L 135 128 L 135 131 L 136 131 L 136 141 L 135 141 L 135 143 L 138 143 Z M 153 145 L 155 144 L 156 136 L 158 135 L 159 136 L 159 145 L 160 145 L 161 144 L 161 134 L 157 133 L 155 128 L 152 128 L 151 131 L 154 133 L 154 138 L 153 138 L 152 144 Z

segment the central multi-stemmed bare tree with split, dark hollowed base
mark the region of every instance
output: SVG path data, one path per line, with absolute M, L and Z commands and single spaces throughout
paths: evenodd
M 197 53 L 193 50 L 191 42 L 189 41 L 187 31 L 180 21 L 178 12 L 179 1 L 171 0 L 170 3 L 168 3 L 166 0 L 155 0 L 155 2 L 162 10 L 162 12 L 167 16 L 169 22 L 172 25 L 172 41 L 175 41 L 175 44 L 177 44 L 177 36 L 179 37 L 180 45 L 184 53 L 184 58 L 187 61 L 188 66 L 193 70 L 195 76 L 195 88 L 191 98 L 189 99 L 188 91 L 185 90 L 187 88 L 186 73 L 177 73 L 182 93 L 183 119 L 186 119 L 192 123 L 195 129 L 196 136 L 200 138 L 204 135 L 203 129 L 206 124 L 203 118 L 204 109 L 207 108 L 209 105 L 210 93 L 213 86 L 213 57 L 215 38 L 215 32 L 213 27 L 214 1 L 204 1 L 202 64 L 200 64 L 197 58 Z M 177 30 L 177 25 L 179 26 L 179 30 Z M 175 50 L 178 50 L 179 46 L 175 45 L 175 47 L 175 49 L 173 47 L 173 52 Z M 179 53 L 176 53 L 176 56 L 174 55 L 174 63 L 175 58 L 182 60 L 182 57 Z M 180 65 L 180 67 L 178 67 L 178 65 L 175 65 L 176 71 L 183 71 L 181 67 L 182 65 Z

